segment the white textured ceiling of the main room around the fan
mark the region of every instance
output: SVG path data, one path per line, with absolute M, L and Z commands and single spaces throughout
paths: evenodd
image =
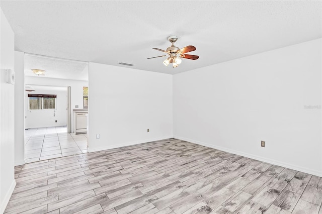
M 179 73 L 321 38 L 320 1 L 1 1 L 16 50 Z M 198 60 L 164 66 L 167 37 Z M 126 67 L 126 66 L 123 66 Z

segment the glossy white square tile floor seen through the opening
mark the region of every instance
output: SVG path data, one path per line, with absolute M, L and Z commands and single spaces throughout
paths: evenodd
M 28 129 L 25 132 L 26 163 L 87 153 L 87 135 L 67 133 L 67 127 Z

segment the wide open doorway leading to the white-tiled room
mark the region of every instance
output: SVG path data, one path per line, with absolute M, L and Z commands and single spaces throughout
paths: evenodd
M 25 54 L 25 83 L 26 163 L 87 152 L 86 132 L 74 132 L 74 111 L 84 110 L 88 63 Z

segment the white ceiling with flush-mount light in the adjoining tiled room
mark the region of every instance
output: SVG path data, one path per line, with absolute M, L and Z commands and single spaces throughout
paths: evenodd
M 37 76 L 31 69 L 45 70 L 46 78 L 88 80 L 88 63 L 61 60 L 42 56 L 25 55 L 25 75 Z

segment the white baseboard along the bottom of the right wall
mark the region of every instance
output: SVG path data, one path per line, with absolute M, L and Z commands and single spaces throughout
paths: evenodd
M 180 136 L 174 136 L 174 138 L 184 140 L 184 141 L 188 141 L 188 142 L 195 143 L 195 144 L 199 144 L 201 146 L 206 146 L 206 147 L 210 147 L 210 148 L 213 148 L 213 149 L 218 149 L 218 150 L 221 150 L 221 151 L 229 152 L 229 153 L 232 153 L 232 154 L 235 154 L 235 155 L 240 155 L 240 156 L 244 156 L 244 157 L 247 157 L 247 158 L 252 158 L 252 159 L 255 159 L 255 160 L 263 161 L 263 162 L 274 164 L 274 165 L 277 165 L 277 166 L 282 166 L 282 167 L 286 167 L 286 168 L 293 169 L 293 170 L 296 170 L 296 171 L 305 172 L 305 173 L 308 173 L 308 174 L 312 174 L 312 175 L 322 177 L 322 171 L 309 169 L 309 168 L 305 168 L 305 167 L 301 167 L 301 166 L 296 166 L 296 165 L 293 165 L 293 164 L 290 164 L 290 163 L 281 162 L 281 161 L 277 161 L 277 160 L 273 160 L 273 159 L 269 159 L 269 158 L 264 158 L 264 157 L 260 157 L 260 156 L 257 156 L 257 155 L 244 153 L 244 152 L 240 152 L 240 151 L 237 151 L 237 150 L 232 150 L 232 149 L 228 149 L 228 148 L 225 148 L 225 147 L 216 146 L 216 145 L 212 145 L 212 144 L 208 144 L 208 143 L 204 143 L 204 142 L 201 142 L 201 141 L 196 141 L 196 140 L 192 140 L 192 139 L 188 139 L 188 138 L 184 138 L 184 137 L 180 137 Z

